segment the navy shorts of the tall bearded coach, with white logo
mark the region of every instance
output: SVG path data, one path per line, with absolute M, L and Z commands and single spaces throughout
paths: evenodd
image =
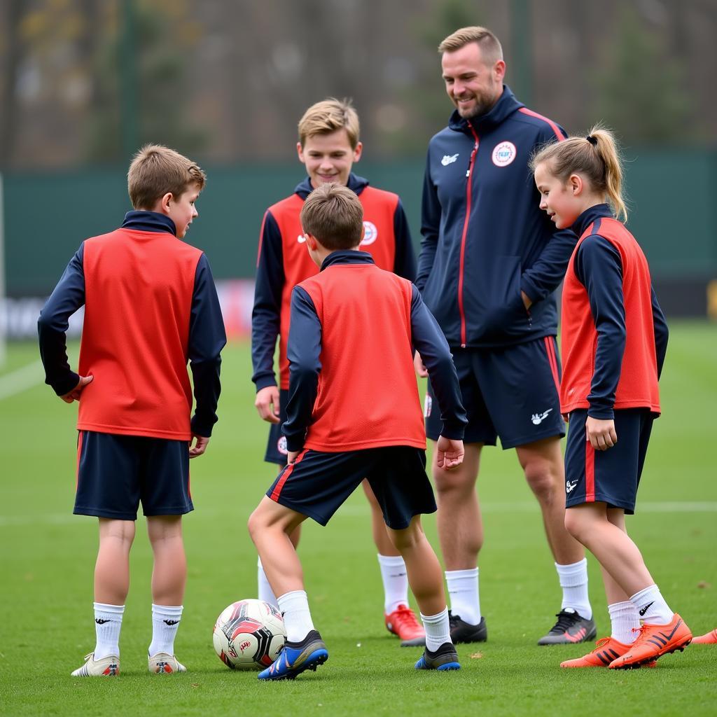
M 452 348 L 467 413 L 465 443 L 515 448 L 564 436 L 558 386 L 561 366 L 554 336 L 499 348 Z M 430 381 L 424 404 L 426 435 L 438 440 L 442 422 Z

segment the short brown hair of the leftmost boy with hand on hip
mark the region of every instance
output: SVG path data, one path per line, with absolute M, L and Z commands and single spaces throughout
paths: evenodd
M 161 144 L 143 146 L 127 173 L 127 189 L 135 209 L 152 209 L 157 199 L 170 191 L 179 197 L 190 184 L 196 184 L 199 191 L 204 189 L 204 171 L 191 159 Z

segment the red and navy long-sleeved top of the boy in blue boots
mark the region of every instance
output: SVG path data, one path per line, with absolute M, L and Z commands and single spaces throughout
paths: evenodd
M 288 450 L 426 447 L 413 367 L 423 356 L 441 409 L 442 435 L 466 424 L 452 356 L 411 282 L 366 252 L 332 252 L 294 288 L 289 336 Z

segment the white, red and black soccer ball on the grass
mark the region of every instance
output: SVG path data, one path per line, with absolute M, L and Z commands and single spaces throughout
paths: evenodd
M 232 602 L 214 623 L 214 651 L 232 670 L 267 668 L 286 642 L 281 613 L 268 602 Z

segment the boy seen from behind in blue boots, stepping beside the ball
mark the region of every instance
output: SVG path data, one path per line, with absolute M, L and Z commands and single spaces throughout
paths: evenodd
M 420 522 L 436 504 L 413 346 L 435 385 L 443 417 L 437 460 L 446 470 L 462 462 L 465 411 L 448 345 L 417 288 L 360 250 L 363 216 L 356 194 L 335 183 L 315 189 L 301 210 L 305 248 L 320 273 L 291 295 L 288 465 L 249 519 L 287 630 L 284 649 L 260 680 L 293 679 L 328 660 L 290 536 L 308 517 L 326 525 L 364 479 L 421 609 L 426 647 L 416 668 L 460 668 L 440 563 Z

